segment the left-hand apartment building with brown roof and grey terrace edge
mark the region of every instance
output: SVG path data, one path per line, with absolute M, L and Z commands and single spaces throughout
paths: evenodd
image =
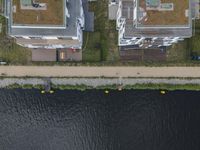
M 82 0 L 5 0 L 8 35 L 32 49 L 81 49 Z

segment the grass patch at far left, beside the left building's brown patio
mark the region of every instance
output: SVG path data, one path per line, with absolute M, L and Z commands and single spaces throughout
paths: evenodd
M 26 65 L 30 63 L 31 51 L 17 45 L 12 38 L 6 36 L 6 20 L 0 16 L 2 32 L 0 33 L 0 59 L 9 64 Z

